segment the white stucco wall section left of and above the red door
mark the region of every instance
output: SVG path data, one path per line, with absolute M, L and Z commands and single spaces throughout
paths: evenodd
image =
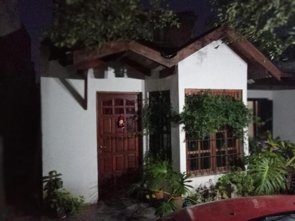
M 84 96 L 83 80 L 66 81 Z M 63 187 L 89 203 L 98 199 L 96 91 L 144 92 L 144 80 L 115 78 L 111 68 L 97 79 L 91 69 L 84 110 L 58 78 L 41 77 L 43 175 L 62 173 Z

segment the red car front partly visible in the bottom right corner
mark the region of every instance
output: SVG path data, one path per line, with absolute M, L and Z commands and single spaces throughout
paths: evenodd
M 295 195 L 240 197 L 177 210 L 161 221 L 295 220 Z

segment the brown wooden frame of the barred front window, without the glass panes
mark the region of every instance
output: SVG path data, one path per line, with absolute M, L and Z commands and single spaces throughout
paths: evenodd
M 188 95 L 198 94 L 198 93 L 205 93 L 209 89 L 185 89 L 185 97 Z M 235 99 L 242 100 L 242 90 L 239 89 L 210 89 L 210 92 L 212 92 L 215 95 L 224 95 L 224 96 L 232 96 Z M 216 138 L 217 133 L 212 134 L 208 137 L 208 139 L 202 139 L 202 140 L 196 140 L 196 141 L 189 141 L 185 140 L 186 143 L 186 172 L 190 176 L 207 176 L 207 175 L 214 175 L 214 174 L 221 174 L 228 171 L 228 164 L 229 164 L 229 156 L 232 157 L 232 159 L 235 159 L 235 157 L 238 157 L 237 161 L 240 159 L 242 150 L 243 150 L 243 143 L 238 141 L 238 138 L 229 138 L 227 137 L 228 133 L 230 131 L 223 130 L 218 131 L 217 133 L 224 133 L 223 138 Z M 224 139 L 225 147 L 220 149 L 219 151 L 226 151 L 226 154 L 217 155 L 217 140 Z M 228 140 L 234 139 L 235 147 L 228 147 Z M 200 142 L 202 142 L 202 146 L 204 145 L 204 141 L 209 141 L 209 149 L 204 151 L 204 149 L 201 149 Z M 198 145 L 196 146 L 196 151 L 190 151 L 189 150 L 189 142 L 198 142 Z M 197 143 L 196 143 L 197 144 Z M 228 154 L 228 151 L 233 150 L 236 151 L 236 153 Z M 194 152 L 194 153 L 191 153 Z M 209 156 L 209 168 L 204 169 L 204 159 L 207 158 L 207 156 L 201 156 L 202 153 L 210 153 Z M 196 158 L 190 158 L 189 154 L 196 154 Z M 226 163 L 225 166 L 217 166 L 217 157 L 221 156 L 221 163 L 222 163 L 222 157 L 225 156 Z M 196 159 L 196 170 L 191 170 L 191 159 Z M 203 160 L 201 160 L 203 159 Z M 197 162 L 198 161 L 198 162 Z M 201 161 L 203 164 L 201 165 Z M 235 160 L 233 160 L 235 163 Z M 198 168 L 199 165 L 199 168 Z M 203 168 L 201 168 L 203 167 Z

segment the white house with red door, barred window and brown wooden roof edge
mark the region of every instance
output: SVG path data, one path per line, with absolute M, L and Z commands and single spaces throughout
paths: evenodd
M 145 45 L 118 41 L 97 51 L 74 52 L 74 66 L 47 61 L 41 72 L 43 175 L 63 174 L 64 188 L 95 203 L 106 189 L 130 182 L 125 172 L 139 168 L 149 148 L 140 128 L 140 110 L 155 91 L 165 91 L 172 107 L 181 112 L 185 95 L 211 89 L 247 102 L 247 80 L 256 69 L 280 78 L 281 72 L 238 33 L 215 29 L 173 55 Z M 233 39 L 222 44 L 222 38 Z M 217 47 L 218 46 L 218 47 Z M 118 61 L 127 67 L 115 77 Z M 79 73 L 82 71 L 82 74 Z M 124 128 L 119 127 L 119 116 Z M 220 133 L 210 141 L 186 143 L 182 126 L 171 124 L 165 144 L 171 148 L 173 167 L 191 174 L 199 185 L 226 171 L 243 146 L 231 140 L 231 156 L 214 149 Z M 230 143 L 230 142 L 228 142 Z M 133 172 L 131 172 L 133 173 Z M 136 176 L 136 173 L 133 173 Z M 132 177 L 132 176 L 131 176 Z

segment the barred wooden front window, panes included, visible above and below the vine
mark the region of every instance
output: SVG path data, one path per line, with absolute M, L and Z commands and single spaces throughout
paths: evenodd
M 185 96 L 203 94 L 207 89 L 185 89 Z M 242 90 L 210 90 L 214 95 L 242 99 Z M 186 140 L 186 170 L 194 176 L 226 172 L 229 166 L 238 166 L 242 144 L 230 128 L 202 140 Z

